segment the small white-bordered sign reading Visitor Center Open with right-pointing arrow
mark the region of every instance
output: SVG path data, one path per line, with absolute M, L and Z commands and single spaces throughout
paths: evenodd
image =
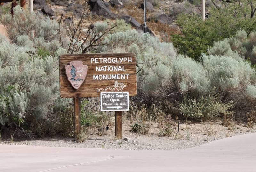
M 129 92 L 101 92 L 101 111 L 129 111 Z

